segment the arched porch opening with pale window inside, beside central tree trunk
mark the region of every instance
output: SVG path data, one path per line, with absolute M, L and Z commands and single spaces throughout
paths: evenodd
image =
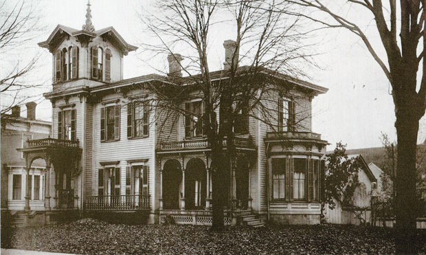
M 203 160 L 190 159 L 186 164 L 185 173 L 185 209 L 204 208 L 207 197 L 207 175 Z

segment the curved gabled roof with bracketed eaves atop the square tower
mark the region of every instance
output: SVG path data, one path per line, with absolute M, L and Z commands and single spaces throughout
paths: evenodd
M 96 36 L 102 36 L 102 38 L 106 38 L 106 40 L 109 40 L 111 43 L 113 43 L 113 45 L 117 47 L 117 49 L 119 49 L 124 55 L 137 49 L 136 46 L 126 43 L 124 38 L 118 34 L 114 27 L 106 27 L 101 30 L 96 30 L 95 32 L 89 32 L 87 30 L 76 30 L 65 25 L 57 25 L 52 34 L 50 34 L 49 38 L 47 38 L 46 41 L 38 43 L 38 45 L 40 47 L 49 49 L 50 52 L 54 52 L 58 45 L 60 45 L 60 43 L 62 43 L 63 40 L 69 36 L 75 36 L 77 38 L 95 38 Z

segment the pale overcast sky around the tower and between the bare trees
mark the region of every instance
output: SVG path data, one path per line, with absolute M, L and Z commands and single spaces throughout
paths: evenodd
M 12 4 L 16 1 L 7 1 Z M 132 45 L 147 40 L 148 34 L 143 30 L 137 11 L 144 14 L 151 10 L 153 0 L 91 0 L 92 21 L 95 29 L 113 26 L 122 37 Z M 38 1 L 46 25 L 44 33 L 38 41 L 28 43 L 29 49 L 36 49 L 39 41 L 45 41 L 56 25 L 62 24 L 81 29 L 85 23 L 87 0 L 55 0 Z M 142 10 L 141 6 L 145 8 Z M 365 17 L 366 21 L 370 19 Z M 328 150 L 333 150 L 335 143 L 342 141 L 348 148 L 367 148 L 381 146 L 381 132 L 388 133 L 390 140 L 396 140 L 394 129 L 394 105 L 390 96 L 390 85 L 383 71 L 379 69 L 361 42 L 343 30 L 328 30 L 322 32 L 322 43 L 315 45 L 317 64 L 322 69 L 310 67 L 305 70 L 317 85 L 327 87 L 328 93 L 313 100 L 313 132 L 321 133 L 324 140 L 331 144 Z M 223 27 L 220 33 L 210 40 L 211 69 L 219 69 L 223 63 L 223 41 L 232 38 L 229 27 Z M 316 40 L 317 41 L 317 40 Z M 41 68 L 38 75 L 41 80 L 51 84 L 52 55 L 47 49 L 42 52 Z M 30 52 L 30 51 L 29 51 Z M 124 78 L 141 76 L 155 72 L 144 59 L 141 49 L 131 52 L 124 57 Z M 157 61 L 155 67 L 166 71 L 166 56 L 164 61 Z M 153 64 L 153 63 L 151 63 Z M 51 89 L 47 86 L 45 91 Z M 24 107 L 25 108 L 25 107 Z M 37 117 L 51 120 L 51 104 L 44 100 L 37 108 Z M 420 137 L 426 138 L 426 121 L 421 121 Z

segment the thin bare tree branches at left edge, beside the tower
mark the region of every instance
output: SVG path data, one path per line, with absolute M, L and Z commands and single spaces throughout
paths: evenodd
M 0 56 L 3 61 L 0 75 L 1 118 L 4 121 L 15 105 L 29 98 L 41 87 L 30 79 L 39 55 L 28 56 L 25 44 L 38 37 L 43 26 L 33 1 L 0 1 Z M 36 96 L 37 97 L 37 96 Z M 41 98 L 41 94 L 38 95 Z

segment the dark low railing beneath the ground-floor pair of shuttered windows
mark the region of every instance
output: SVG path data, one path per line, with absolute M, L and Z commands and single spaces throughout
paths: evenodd
M 91 196 L 85 198 L 85 210 L 142 210 L 149 209 L 149 195 Z

